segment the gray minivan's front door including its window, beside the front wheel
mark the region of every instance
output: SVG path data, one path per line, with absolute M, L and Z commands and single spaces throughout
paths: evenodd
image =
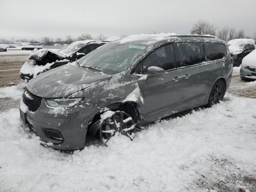
M 176 69 L 173 44 L 168 44 L 152 52 L 137 68 L 141 74 L 147 74 L 147 69 L 157 66 L 165 70 L 162 74 L 148 74 L 140 78 L 138 84 L 144 98 L 140 114 L 146 122 L 168 116 L 180 110 L 182 95 L 182 74 Z

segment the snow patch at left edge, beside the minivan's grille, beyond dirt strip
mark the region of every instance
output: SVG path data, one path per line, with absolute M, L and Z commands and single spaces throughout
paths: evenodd
M 24 92 L 26 83 L 20 83 L 15 86 L 0 88 L 0 98 L 12 98 L 19 100 Z

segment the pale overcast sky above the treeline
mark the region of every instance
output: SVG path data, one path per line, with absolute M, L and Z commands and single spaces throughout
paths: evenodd
M 194 22 L 256 32 L 256 0 L 0 0 L 0 38 L 175 32 Z

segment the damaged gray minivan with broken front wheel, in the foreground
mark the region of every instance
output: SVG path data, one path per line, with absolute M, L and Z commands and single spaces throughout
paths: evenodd
M 32 79 L 20 102 L 26 128 L 44 145 L 84 148 L 86 135 L 106 142 L 135 125 L 223 99 L 232 60 L 210 36 L 129 36 Z

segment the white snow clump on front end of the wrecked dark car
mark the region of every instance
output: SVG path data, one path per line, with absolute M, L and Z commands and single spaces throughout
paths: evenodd
M 38 73 L 43 70 L 49 69 L 55 62 L 47 63 L 46 65 L 36 65 L 36 61 L 32 60 L 30 62 L 26 61 L 22 67 L 20 68 L 20 73 L 33 75 L 33 77 L 37 76 Z

